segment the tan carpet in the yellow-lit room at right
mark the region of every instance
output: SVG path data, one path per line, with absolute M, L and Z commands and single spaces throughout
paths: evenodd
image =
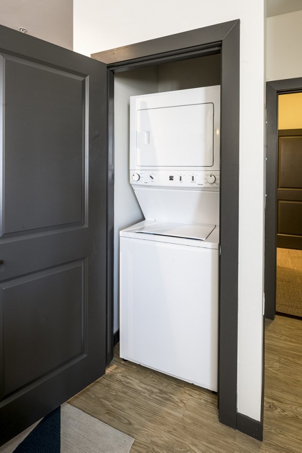
M 277 248 L 276 311 L 302 317 L 302 250 Z

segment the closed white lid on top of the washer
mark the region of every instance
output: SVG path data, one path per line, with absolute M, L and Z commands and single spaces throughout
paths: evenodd
M 155 222 L 133 230 L 135 233 L 148 235 L 172 236 L 185 239 L 205 241 L 216 225 L 200 225 L 196 223 Z

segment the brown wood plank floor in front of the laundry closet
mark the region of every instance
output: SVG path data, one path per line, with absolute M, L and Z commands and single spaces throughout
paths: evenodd
M 69 403 L 135 438 L 131 452 L 302 452 L 302 321 L 266 324 L 264 441 L 218 422 L 207 390 L 115 357 Z

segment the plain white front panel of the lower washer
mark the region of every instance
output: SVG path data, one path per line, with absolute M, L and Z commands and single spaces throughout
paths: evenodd
M 132 235 L 120 238 L 121 357 L 216 392 L 219 251 Z

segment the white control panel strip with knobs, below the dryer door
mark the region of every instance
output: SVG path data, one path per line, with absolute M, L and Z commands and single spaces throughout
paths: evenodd
M 218 188 L 220 172 L 218 171 L 170 171 L 170 170 L 130 170 L 130 183 L 137 185 L 177 187 L 177 188 Z

